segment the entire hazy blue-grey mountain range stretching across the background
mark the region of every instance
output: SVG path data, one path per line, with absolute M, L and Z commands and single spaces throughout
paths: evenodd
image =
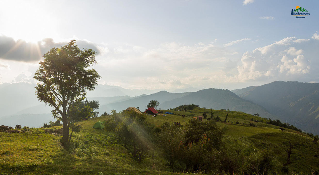
M 0 125 L 28 124 L 30 127 L 39 127 L 55 120 L 50 114 L 52 107 L 37 100 L 34 87 L 35 84 L 26 82 L 0 84 Z M 189 92 L 192 90 L 196 92 Z M 128 107 L 139 107 L 144 111 L 151 100 L 157 100 L 160 103 L 157 109 L 196 104 L 218 110 L 258 113 L 263 118 L 280 119 L 306 132 L 319 133 L 319 83 L 275 81 L 232 91 L 187 88 L 172 92 L 98 85 L 87 96 L 88 100 L 99 101 L 100 114 Z M 33 122 L 26 122 L 28 118 L 32 118 L 30 121 Z

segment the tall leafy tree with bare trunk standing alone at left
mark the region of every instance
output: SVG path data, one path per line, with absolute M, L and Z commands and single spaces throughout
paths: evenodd
M 93 90 L 100 75 L 90 66 L 97 64 L 95 51 L 79 49 L 75 40 L 61 48 L 52 48 L 42 57 L 34 79 L 41 102 L 53 107 L 52 114 L 63 122 L 62 146 L 68 148 L 70 110 L 85 99 L 85 91 Z

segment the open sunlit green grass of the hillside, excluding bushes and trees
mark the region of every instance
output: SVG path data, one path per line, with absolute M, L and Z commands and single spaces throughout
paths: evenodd
M 166 111 L 174 115 L 164 114 L 147 116 L 147 122 L 160 126 L 163 122 L 181 122 L 182 125 L 205 111 L 210 117 L 210 109 L 195 108 L 192 111 Z M 308 135 L 286 129 L 279 131 L 278 126 L 254 122 L 266 119 L 238 111 L 213 110 L 214 116 L 219 115 L 227 122 L 216 122 L 223 129 L 224 146 L 228 154 L 236 152 L 240 156 L 256 150 L 271 149 L 276 154 L 278 165 L 286 162 L 290 141 L 295 146 L 291 156 L 291 164 L 287 167 L 288 174 L 310 174 L 318 169 L 319 147 Z M 186 118 L 180 115 L 185 114 Z M 31 129 L 25 133 L 0 133 L 0 174 L 187 174 L 173 173 L 167 167 L 160 151 L 145 158 L 141 164 L 118 142 L 114 133 L 92 128 L 97 121 L 107 117 L 91 118 L 79 122 L 83 129 L 75 133 L 72 139 L 72 151 L 65 151 L 60 145 L 61 136 L 44 133 L 44 128 Z M 229 122 L 228 122 L 229 120 Z M 239 124 L 235 124 L 235 122 Z M 247 124 L 254 123 L 254 126 Z M 59 128 L 59 127 L 54 127 Z M 154 164 L 154 166 L 153 166 Z M 281 174 L 286 174 L 280 171 Z M 280 174 L 279 173 L 279 174 Z

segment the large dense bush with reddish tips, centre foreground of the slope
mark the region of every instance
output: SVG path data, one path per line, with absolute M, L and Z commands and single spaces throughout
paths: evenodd
M 190 119 L 184 127 L 164 123 L 161 129 L 159 146 L 173 171 L 217 170 L 222 132 L 214 122 Z

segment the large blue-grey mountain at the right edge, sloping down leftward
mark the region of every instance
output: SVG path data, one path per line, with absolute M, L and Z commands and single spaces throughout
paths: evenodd
M 319 83 L 275 81 L 238 95 L 285 123 L 319 134 Z

